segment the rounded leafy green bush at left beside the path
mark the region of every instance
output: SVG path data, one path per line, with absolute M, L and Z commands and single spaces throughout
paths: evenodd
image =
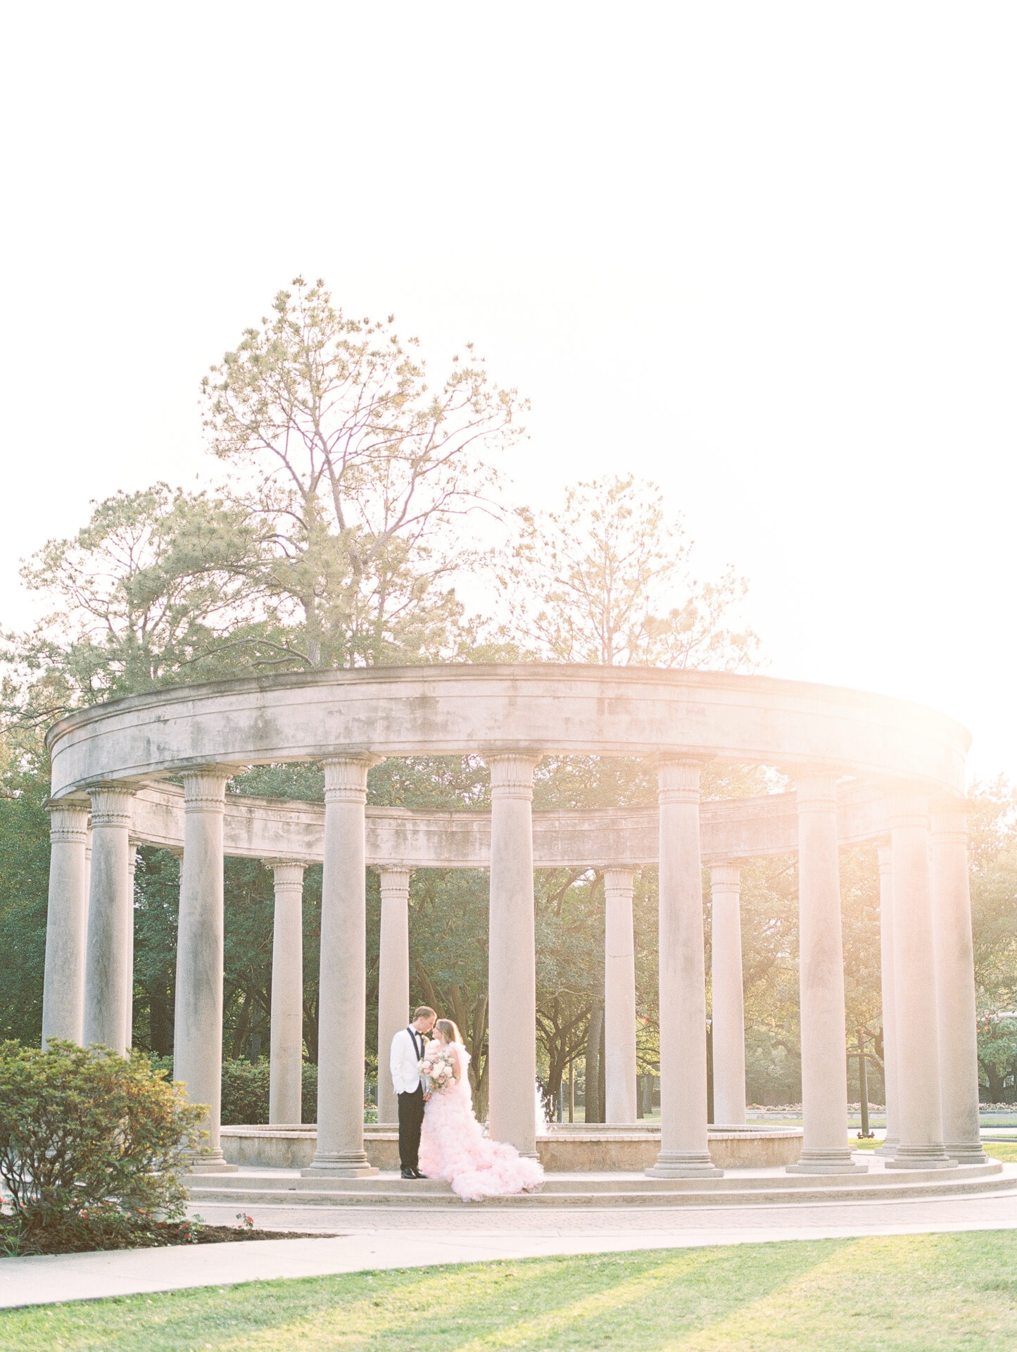
M 181 1214 L 178 1179 L 203 1109 L 157 1073 L 103 1046 L 0 1045 L 0 1178 L 28 1226 L 81 1211 Z

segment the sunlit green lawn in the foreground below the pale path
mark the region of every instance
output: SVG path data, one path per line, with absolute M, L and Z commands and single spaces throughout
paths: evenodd
M 667 1249 L 259 1282 L 11 1310 L 0 1348 L 1017 1347 L 1017 1233 Z

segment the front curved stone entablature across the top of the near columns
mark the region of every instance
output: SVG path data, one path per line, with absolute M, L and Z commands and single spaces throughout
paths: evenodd
M 211 681 L 80 710 L 47 737 L 54 798 L 209 763 L 496 749 L 810 767 L 962 794 L 968 744 L 943 714 L 832 685 L 538 662 Z

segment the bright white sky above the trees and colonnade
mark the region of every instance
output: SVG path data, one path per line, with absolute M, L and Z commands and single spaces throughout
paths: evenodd
M 652 477 L 768 672 L 1017 777 L 1017 9 L 8 7 L 4 529 L 203 465 L 197 387 L 323 276 L 532 400 L 516 493 Z

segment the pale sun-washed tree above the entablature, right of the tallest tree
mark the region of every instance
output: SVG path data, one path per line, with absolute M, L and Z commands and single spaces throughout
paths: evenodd
M 729 615 L 746 583 L 700 583 L 681 519 L 632 476 L 581 483 L 565 507 L 529 518 L 498 587 L 508 631 L 533 656 L 602 667 L 735 671 L 758 639 Z

